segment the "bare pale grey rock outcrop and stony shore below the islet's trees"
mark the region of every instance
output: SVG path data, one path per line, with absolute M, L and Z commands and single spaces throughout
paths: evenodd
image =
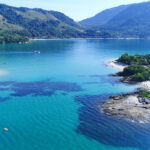
M 116 61 L 113 61 L 113 63 L 116 63 Z M 117 63 L 117 65 L 119 64 Z M 106 114 L 121 117 L 132 122 L 149 123 L 150 98 L 140 97 L 140 92 L 147 92 L 150 89 L 149 81 L 144 82 L 148 83 L 146 86 L 142 86 L 144 85 L 143 83 L 130 82 L 127 78 L 122 78 L 121 81 L 130 84 L 139 84 L 139 86 L 141 85 L 141 89 L 134 93 L 110 96 L 106 102 L 100 105 L 101 110 Z

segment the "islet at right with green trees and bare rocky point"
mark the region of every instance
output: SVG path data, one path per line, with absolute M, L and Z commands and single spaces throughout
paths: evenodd
M 122 76 L 121 81 L 129 84 L 141 84 L 150 80 L 150 54 L 129 55 L 124 54 L 114 63 L 126 65 L 115 76 Z M 147 123 L 150 122 L 150 87 L 141 87 L 137 92 L 111 96 L 100 108 L 113 116 Z

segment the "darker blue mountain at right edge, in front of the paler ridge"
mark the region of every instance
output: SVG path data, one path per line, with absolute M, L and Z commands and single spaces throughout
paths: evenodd
M 150 2 L 131 5 L 100 28 L 131 36 L 150 37 Z

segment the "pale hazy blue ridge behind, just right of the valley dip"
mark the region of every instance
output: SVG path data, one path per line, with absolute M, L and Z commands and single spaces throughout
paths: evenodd
M 110 9 L 106 9 L 94 17 L 87 18 L 85 20 L 80 21 L 79 23 L 85 27 L 95 27 L 106 24 L 109 20 L 111 20 L 114 16 L 119 14 L 121 11 L 125 10 L 129 5 L 121 5 L 119 7 L 114 7 Z

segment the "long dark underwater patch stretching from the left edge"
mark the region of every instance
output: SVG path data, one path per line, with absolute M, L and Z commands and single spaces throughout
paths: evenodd
M 68 82 L 0 82 L 0 91 L 10 91 L 8 97 L 1 97 L 0 101 L 9 100 L 11 97 L 23 96 L 52 96 L 56 91 L 62 91 L 63 95 L 69 92 L 78 92 L 83 89 L 76 83 Z

